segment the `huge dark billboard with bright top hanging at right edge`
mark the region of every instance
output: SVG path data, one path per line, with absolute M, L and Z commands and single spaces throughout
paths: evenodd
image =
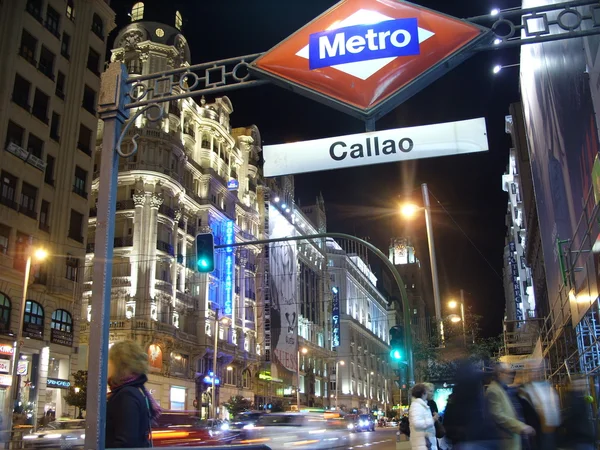
M 554 3 L 558 1 L 524 0 L 523 7 Z M 574 324 L 598 297 L 597 261 L 591 253 L 579 257 L 576 265 L 581 270 L 574 274 L 574 292 L 565 302 L 565 289 L 563 301 L 557 302 L 564 285 L 558 242 L 573 240 L 572 248 L 578 249 L 586 228 L 578 228 L 579 220 L 584 209 L 590 212 L 593 207 L 593 202 L 586 204 L 585 200 L 599 145 L 584 48 L 591 46 L 597 52 L 599 45 L 600 37 L 593 36 L 585 41 L 579 38 L 529 44 L 521 50 L 521 92 L 548 298 L 554 318 L 561 322 L 570 308 Z

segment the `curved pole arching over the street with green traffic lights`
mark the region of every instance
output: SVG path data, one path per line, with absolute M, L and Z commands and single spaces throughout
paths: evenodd
M 365 241 L 364 239 L 357 238 L 356 236 L 352 236 L 350 234 L 345 233 L 319 233 L 319 234 L 309 234 L 305 236 L 287 236 L 282 238 L 275 239 L 258 239 L 255 241 L 246 241 L 246 242 L 234 242 L 233 244 L 219 244 L 215 245 L 215 249 L 227 248 L 227 247 L 243 247 L 246 245 L 261 245 L 261 244 L 271 244 L 273 242 L 289 242 L 289 241 L 302 241 L 302 240 L 316 240 L 323 238 L 338 238 L 338 239 L 347 239 L 352 242 L 356 242 L 364 245 L 369 250 L 371 250 L 380 260 L 381 262 L 388 268 L 388 270 L 392 273 L 394 277 L 394 281 L 398 285 L 398 290 L 400 291 L 400 300 L 402 303 L 402 316 L 404 322 L 404 341 L 406 342 L 406 347 L 408 349 L 408 381 L 410 386 L 415 384 L 415 371 L 414 371 L 414 361 L 413 361 L 413 346 L 412 346 L 412 332 L 411 332 L 411 322 L 410 322 L 410 307 L 408 305 L 408 294 L 406 293 L 406 286 L 402 281 L 402 277 L 398 273 L 398 269 L 392 264 L 392 262 L 388 259 L 387 256 L 383 254 L 381 250 L 375 247 L 370 242 Z

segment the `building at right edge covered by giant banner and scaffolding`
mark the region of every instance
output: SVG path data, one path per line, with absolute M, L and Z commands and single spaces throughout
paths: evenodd
M 530 6 L 541 5 L 524 1 L 523 7 Z M 593 14 L 593 7 L 578 8 L 578 13 Z M 560 31 L 551 27 L 550 32 Z M 599 45 L 600 37 L 590 36 L 526 45 L 521 51 L 526 141 L 548 293 L 537 350 L 556 384 L 574 373 L 600 373 L 594 249 L 600 231 L 600 196 L 594 189 L 600 148 Z

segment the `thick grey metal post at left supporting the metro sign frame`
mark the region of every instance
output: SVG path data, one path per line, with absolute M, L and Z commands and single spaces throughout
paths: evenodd
M 98 109 L 104 121 L 100 184 L 98 189 L 98 219 L 92 282 L 92 319 L 90 323 L 85 449 L 103 450 L 106 428 L 106 388 L 108 368 L 108 332 L 112 290 L 112 260 L 114 249 L 115 208 L 119 155 L 115 151 L 121 126 L 128 117 L 124 109 L 127 70 L 113 62 L 102 74 Z

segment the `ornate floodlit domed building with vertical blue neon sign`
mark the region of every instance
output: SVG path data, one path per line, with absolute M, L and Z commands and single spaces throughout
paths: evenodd
M 170 22 L 143 2 L 120 30 L 112 60 L 131 76 L 185 67 L 190 49 L 181 33 L 183 16 Z M 175 82 L 175 91 L 179 83 Z M 110 341 L 135 339 L 148 351 L 148 389 L 164 409 L 197 409 L 204 418 L 232 396 L 253 399 L 261 346 L 257 339 L 257 248 L 216 252 L 216 270 L 199 274 L 194 242 L 211 232 L 215 245 L 262 236 L 257 185 L 260 134 L 233 129 L 227 97 L 172 101 L 157 122 L 136 119 L 125 136 L 139 134 L 135 156 L 119 166 L 115 217 Z M 133 113 L 132 113 L 133 115 Z M 95 200 L 102 127 L 98 131 L 91 190 L 82 308 L 82 360 L 87 358 Z M 214 347 L 215 333 L 217 348 Z M 213 355 L 217 352 L 217 366 Z M 215 392 L 212 380 L 215 378 Z

